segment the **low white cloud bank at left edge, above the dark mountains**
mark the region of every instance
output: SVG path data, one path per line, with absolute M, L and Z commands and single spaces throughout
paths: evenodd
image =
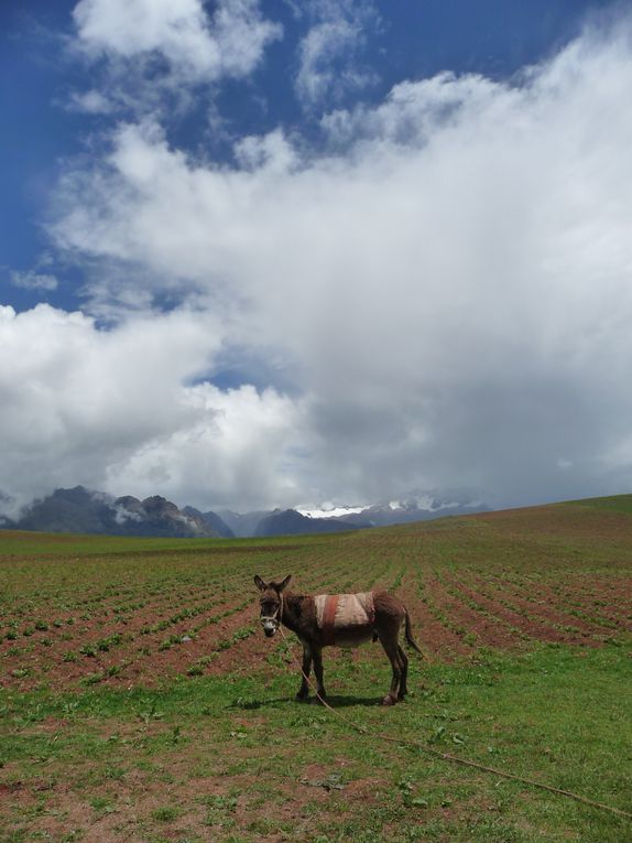
M 48 305 L 0 307 L 0 476 L 13 510 L 78 483 L 198 506 L 283 498 L 297 408 L 272 389 L 196 383 L 220 342 L 208 314 L 103 331 Z

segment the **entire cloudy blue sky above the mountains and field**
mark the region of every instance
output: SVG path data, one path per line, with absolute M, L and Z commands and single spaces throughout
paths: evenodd
M 0 4 L 0 491 L 632 486 L 632 8 Z

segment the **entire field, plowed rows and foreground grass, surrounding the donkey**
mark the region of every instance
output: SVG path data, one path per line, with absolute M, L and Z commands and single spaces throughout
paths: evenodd
M 632 813 L 631 562 L 632 496 L 287 539 L 0 531 L 0 840 L 632 841 L 424 749 Z M 295 702 L 255 573 L 399 594 L 428 656 L 407 701 L 378 704 L 368 645 L 325 651 L 336 714 Z

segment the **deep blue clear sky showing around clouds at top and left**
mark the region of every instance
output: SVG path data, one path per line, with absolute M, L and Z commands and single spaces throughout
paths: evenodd
M 0 107 L 3 115 L 3 199 L 0 241 L 3 281 L 11 271 L 32 271 L 51 252 L 45 209 L 59 175 L 59 161 L 85 153 L 86 144 L 107 127 L 101 118 L 67 107 L 73 91 L 85 90 L 97 68 L 73 61 L 75 2 L 3 4 L 0 9 Z M 301 6 L 301 4 L 298 4 Z M 359 7 L 361 4 L 358 4 Z M 429 0 L 428 2 L 367 4 L 366 30 L 358 45 L 358 63 L 372 78 L 360 89 L 341 91 L 336 106 L 379 102 L 403 79 L 422 79 L 449 69 L 509 78 L 525 65 L 546 58 L 577 36 L 586 17 L 607 3 L 566 0 L 506 2 L 488 0 Z M 207 6 L 211 8 L 211 6 Z M 177 120 L 164 122 L 167 137 L 186 150 L 211 149 L 219 160 L 230 144 L 218 142 L 208 128 L 209 101 L 217 102 L 230 132 L 254 134 L 279 126 L 296 128 L 318 138 L 318 117 L 330 107 L 319 104 L 305 112 L 294 90 L 297 45 L 318 19 L 304 7 L 297 15 L 288 2 L 262 7 L 266 18 L 283 26 L 283 36 L 270 45 L 265 58 L 244 83 L 227 80 L 219 90 L 200 90 L 198 101 Z M 364 23 L 362 21 L 361 23 Z M 340 64 L 338 58 L 334 67 Z M 88 74 L 86 74 L 88 71 Z M 92 74 L 95 74 L 92 76 Z M 51 255 L 51 257 L 54 257 Z M 76 306 L 80 274 L 57 269 L 63 287 L 47 301 Z M 67 279 L 67 281 L 66 281 Z M 20 309 L 39 294 L 9 285 L 4 303 Z

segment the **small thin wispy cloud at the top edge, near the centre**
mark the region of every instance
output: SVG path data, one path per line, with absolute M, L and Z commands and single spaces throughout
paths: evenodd
M 361 90 L 374 74 L 361 60 L 367 30 L 379 15 L 372 2 L 312 0 L 307 12 L 313 23 L 297 50 L 295 90 L 303 106 L 330 107 L 350 91 Z

